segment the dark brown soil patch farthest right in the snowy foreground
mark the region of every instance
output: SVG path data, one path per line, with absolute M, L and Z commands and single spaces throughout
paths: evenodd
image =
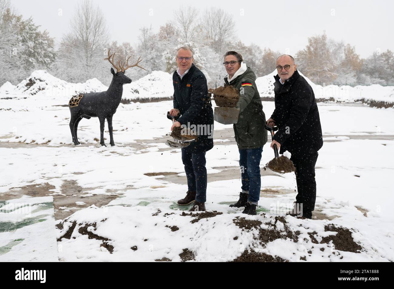
M 325 225 L 324 226 L 325 232 L 338 232 L 335 236 L 327 236 L 323 237 L 322 243 L 330 243 L 330 241 L 333 241 L 333 244 L 335 246 L 336 250 L 340 251 L 346 251 L 346 252 L 353 252 L 353 253 L 360 253 L 360 250 L 362 247 L 355 243 L 353 240 L 353 237 L 351 236 L 351 232 L 348 228 L 343 228 L 343 227 L 336 227 L 332 224 L 330 225 Z

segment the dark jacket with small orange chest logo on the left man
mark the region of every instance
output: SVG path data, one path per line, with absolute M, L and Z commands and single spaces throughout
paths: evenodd
M 180 79 L 177 71 L 173 74 L 174 108 L 179 109 L 181 117 L 177 121 L 181 125 L 204 125 L 198 129 L 197 141 L 185 148 L 191 153 L 209 151 L 214 146 L 213 126 L 214 112 L 211 98 L 208 96 L 208 86 L 203 72 L 194 64 Z M 208 130 L 208 133 L 207 133 Z M 210 134 L 210 136 L 208 135 Z

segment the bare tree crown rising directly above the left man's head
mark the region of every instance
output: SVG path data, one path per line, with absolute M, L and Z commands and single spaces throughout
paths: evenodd
M 175 25 L 180 31 L 184 42 L 192 39 L 194 23 L 197 22 L 199 11 L 195 7 L 181 6 L 179 10 L 174 11 Z

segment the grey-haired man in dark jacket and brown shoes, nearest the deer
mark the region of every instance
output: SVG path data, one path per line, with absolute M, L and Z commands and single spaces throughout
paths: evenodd
M 183 46 L 177 51 L 178 69 L 173 74 L 174 108 L 170 110 L 171 116 L 178 116 L 174 127 L 187 127 L 192 131 L 196 129 L 197 141 L 182 149 L 182 162 L 188 180 L 188 191 L 178 205 L 193 203 L 191 211 L 205 211 L 206 201 L 206 160 L 205 153 L 214 146 L 214 113 L 206 77 L 193 64 L 193 52 Z

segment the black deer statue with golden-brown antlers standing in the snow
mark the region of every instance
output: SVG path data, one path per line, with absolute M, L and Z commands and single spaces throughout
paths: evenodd
M 112 82 L 110 87 L 108 87 L 107 91 L 103 92 L 92 92 L 86 94 L 79 94 L 73 96 L 69 101 L 69 109 L 71 112 L 70 119 L 70 130 L 72 135 L 72 142 L 74 145 L 80 144 L 78 142 L 77 129 L 78 123 L 82 118 L 91 118 L 98 117 L 100 121 L 100 144 L 104 145 L 104 123 L 105 119 L 108 122 L 108 130 L 110 132 L 110 144 L 113 146 L 115 143 L 113 142 L 112 136 L 112 116 L 115 114 L 117 107 L 122 99 L 123 94 L 123 84 L 131 83 L 131 79 L 125 75 L 126 69 L 130 67 L 137 66 L 146 70 L 145 68 L 138 65 L 141 60 L 141 57 L 138 57 L 137 63 L 134 65 L 128 65 L 128 59 L 126 63 L 126 67 L 124 67 L 125 62 L 121 62 L 120 60 L 115 65 L 113 63 L 113 58 L 115 57 L 115 53 L 110 55 L 110 49 L 108 50 L 108 57 L 104 58 L 104 60 L 108 60 L 113 67 L 116 68 L 116 73 L 111 68 L 111 73 L 113 74 Z M 112 59 L 111 59 L 112 58 Z

